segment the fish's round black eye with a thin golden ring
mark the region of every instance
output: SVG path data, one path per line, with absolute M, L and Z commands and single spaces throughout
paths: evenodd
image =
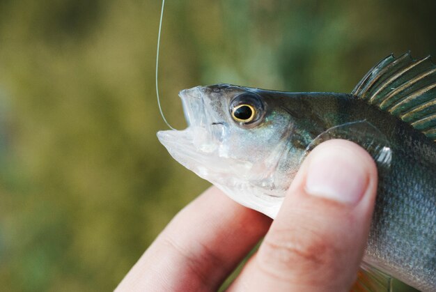
M 231 101 L 230 113 L 239 125 L 252 127 L 263 120 L 265 105 L 257 94 L 242 93 Z

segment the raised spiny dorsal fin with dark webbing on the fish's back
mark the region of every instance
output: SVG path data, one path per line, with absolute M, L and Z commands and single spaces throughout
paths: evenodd
M 397 116 L 436 142 L 436 65 L 430 56 L 412 59 L 410 52 L 387 56 L 371 68 L 352 91 Z

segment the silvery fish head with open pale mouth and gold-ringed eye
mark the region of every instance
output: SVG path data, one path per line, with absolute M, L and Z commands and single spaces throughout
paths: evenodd
M 180 164 L 235 201 L 275 215 L 298 168 L 297 159 L 288 157 L 292 116 L 259 89 L 216 84 L 179 95 L 188 126 L 159 131 L 159 141 Z

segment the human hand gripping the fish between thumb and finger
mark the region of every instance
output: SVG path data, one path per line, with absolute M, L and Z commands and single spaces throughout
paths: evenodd
M 363 148 L 326 141 L 304 160 L 274 222 L 211 187 L 174 217 L 117 291 L 216 291 L 263 236 L 229 291 L 348 291 L 376 189 Z

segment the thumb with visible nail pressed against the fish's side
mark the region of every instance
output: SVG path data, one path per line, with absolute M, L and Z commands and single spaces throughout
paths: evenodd
M 350 141 L 316 147 L 257 254 L 231 289 L 349 291 L 366 247 L 377 169 Z

